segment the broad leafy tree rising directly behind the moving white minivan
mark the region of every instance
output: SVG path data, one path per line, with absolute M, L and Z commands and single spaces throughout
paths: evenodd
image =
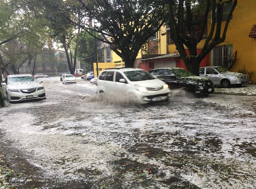
M 80 4 L 63 2 L 64 9 L 53 5 L 54 10 L 99 41 L 108 43 L 110 49 L 123 59 L 126 67 L 134 66 L 142 45 L 159 31 L 167 17 L 166 3 L 162 0 L 76 1 Z M 70 17 L 67 12 L 79 16 Z M 88 26 L 88 18 L 98 24 L 93 28 Z M 94 32 L 100 33 L 102 38 L 95 36 Z

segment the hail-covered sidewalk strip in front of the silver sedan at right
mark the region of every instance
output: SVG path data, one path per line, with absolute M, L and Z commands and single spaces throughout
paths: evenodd
M 220 88 L 216 86 L 215 94 L 233 94 L 244 96 L 256 96 L 256 84 L 243 84 L 241 87 Z

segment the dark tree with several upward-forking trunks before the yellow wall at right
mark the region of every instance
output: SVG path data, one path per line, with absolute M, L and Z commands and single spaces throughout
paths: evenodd
M 170 38 L 174 41 L 187 69 L 199 76 L 199 66 L 204 57 L 216 45 L 225 41 L 229 20 L 234 11 L 237 0 L 234 0 L 230 11 L 223 12 L 222 0 L 168 0 L 169 5 L 169 26 Z M 203 39 L 204 31 L 207 28 L 208 15 L 211 12 L 212 24 L 202 51 L 197 54 L 197 44 Z M 227 14 L 227 20 L 221 32 L 222 15 Z M 203 14 L 201 21 L 199 16 Z M 201 22 L 200 22 L 201 21 Z M 197 38 L 195 27 L 202 25 L 201 34 Z M 185 33 L 185 28 L 189 35 Z M 185 51 L 189 50 L 189 55 Z

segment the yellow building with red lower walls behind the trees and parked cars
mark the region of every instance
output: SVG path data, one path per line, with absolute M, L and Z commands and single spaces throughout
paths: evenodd
M 224 10 L 227 10 L 232 6 L 232 0 L 226 1 L 223 4 Z M 214 47 L 212 51 L 207 55 L 201 63 L 201 66 L 220 66 L 223 59 L 228 56 L 232 56 L 237 51 L 237 59 L 231 71 L 238 72 L 239 69 L 245 68 L 246 70 L 256 72 L 256 1 L 255 0 L 238 0 L 237 6 L 232 14 L 232 19 L 230 19 L 228 30 L 226 33 L 225 42 Z M 222 29 L 226 23 L 225 18 L 227 13 L 223 13 Z M 205 38 L 209 34 L 211 28 L 211 14 L 208 17 L 207 30 L 204 34 L 204 39 L 197 44 L 198 53 L 200 49 L 203 48 Z M 195 28 L 196 34 L 200 34 L 201 30 L 199 27 Z M 134 67 L 140 67 L 145 70 L 150 70 L 156 68 L 154 64 L 158 63 L 160 65 L 173 65 L 175 67 L 184 67 L 182 59 L 180 59 L 178 51 L 173 41 L 170 39 L 170 29 L 165 26 L 161 27 L 160 31 L 157 32 L 155 38 L 152 41 L 157 40 L 158 50 L 153 53 L 155 56 L 147 55 L 141 56 L 139 52 Z M 166 35 L 161 35 L 165 33 Z M 186 48 L 186 47 L 185 47 Z M 173 56 L 171 56 L 173 54 Z M 164 55 L 164 56 L 163 56 Z M 156 59 L 156 56 L 160 56 L 161 59 Z M 153 58 L 152 58 L 153 57 Z M 160 58 L 159 57 L 159 58 Z M 145 62 L 145 60 L 147 62 Z M 144 62 L 143 62 L 144 61 Z M 102 64 L 104 67 L 123 67 L 123 60 L 112 51 L 112 62 L 107 64 Z M 94 70 L 96 71 L 96 66 Z M 103 69 L 102 67 L 102 69 Z M 101 68 L 99 66 L 99 68 Z M 256 82 L 256 73 L 253 75 L 252 80 Z

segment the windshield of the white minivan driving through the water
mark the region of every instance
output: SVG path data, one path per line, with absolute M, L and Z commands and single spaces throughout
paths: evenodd
M 149 80 L 149 79 L 156 79 L 150 73 L 144 70 L 129 71 L 129 72 L 124 72 L 124 74 L 128 77 L 130 81 L 143 81 L 143 80 Z

